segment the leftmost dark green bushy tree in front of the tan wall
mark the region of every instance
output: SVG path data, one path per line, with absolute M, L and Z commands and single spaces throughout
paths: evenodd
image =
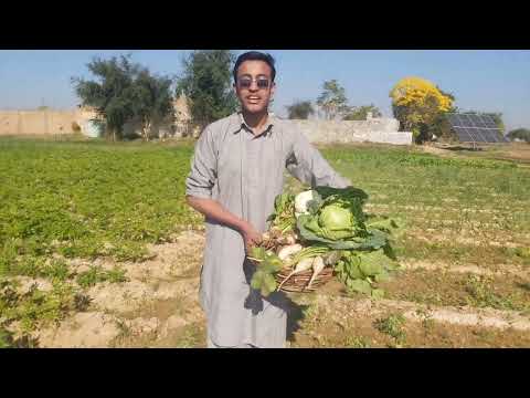
M 73 77 L 72 82 L 83 106 L 93 107 L 105 121 L 105 135 L 120 139 L 124 125 L 134 117 L 134 84 L 139 65 L 129 56 L 108 61 L 95 57 L 87 64 L 98 81 Z

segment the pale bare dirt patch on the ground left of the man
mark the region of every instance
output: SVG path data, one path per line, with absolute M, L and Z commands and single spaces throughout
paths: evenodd
M 200 329 L 204 322 L 198 302 L 203 245 L 202 233 L 186 232 L 172 243 L 150 247 L 150 260 L 120 263 L 129 280 L 89 289 L 89 310 L 74 314 L 59 327 L 40 331 L 35 335 L 40 346 L 178 346 L 181 335 L 189 341 L 190 326 Z M 102 259 L 71 264 L 78 271 L 91 264 L 104 269 L 115 265 Z M 194 336 L 198 341 L 199 332 Z

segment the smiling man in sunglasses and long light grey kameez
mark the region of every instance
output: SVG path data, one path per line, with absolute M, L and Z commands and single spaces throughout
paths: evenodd
M 187 179 L 188 203 L 205 216 L 206 245 L 200 298 L 209 347 L 283 347 L 286 297 L 261 297 L 250 286 L 253 265 L 245 251 L 261 241 L 284 170 L 311 186 L 343 188 L 304 135 L 268 114 L 275 92 L 274 59 L 239 56 L 234 90 L 242 112 L 206 126 L 195 145 Z

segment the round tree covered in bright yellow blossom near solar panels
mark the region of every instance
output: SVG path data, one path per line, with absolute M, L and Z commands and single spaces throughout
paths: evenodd
M 453 111 L 454 97 L 430 81 L 405 77 L 391 90 L 392 111 L 401 127 L 423 142 L 432 137 L 433 126 L 441 115 Z

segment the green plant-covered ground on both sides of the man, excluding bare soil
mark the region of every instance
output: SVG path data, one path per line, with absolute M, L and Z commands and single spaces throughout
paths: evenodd
M 523 315 L 530 312 L 527 161 L 494 159 L 487 153 L 439 156 L 421 148 L 367 144 L 321 150 L 339 172 L 369 195 L 367 211 L 398 217 L 406 223 L 406 233 L 395 242 L 396 253 L 400 262 L 417 266 L 405 269 L 385 284 L 386 300 L 517 311 Z M 85 311 L 89 305 L 88 286 L 127 281 L 119 266 L 110 271 L 94 266 L 76 273 L 68 268 L 67 259 L 105 256 L 118 265 L 123 261 L 141 262 L 149 255 L 147 244 L 163 244 L 180 231 L 200 229 L 202 218 L 184 203 L 192 151 L 193 144 L 187 142 L 0 139 L 2 327 L 20 323 L 20 328 L 30 333 Z M 447 272 L 455 266 L 475 266 L 486 273 Z M 18 294 L 18 275 L 49 280 L 53 290 Z M 344 293 L 330 287 L 328 293 L 322 292 L 321 300 L 332 296 L 344 297 Z M 312 310 L 305 313 L 292 346 L 528 344 L 518 332 L 464 333 L 438 323 L 413 327 L 400 314 L 335 331 L 314 322 L 315 316 L 328 314 L 319 312 L 331 311 L 332 306 L 315 307 L 311 300 L 312 306 L 309 302 L 307 305 Z M 422 337 L 418 331 L 427 326 L 432 328 L 425 334 L 428 338 Z M 322 327 L 328 328 L 319 329 Z M 187 344 L 193 346 L 187 333 Z M 379 339 L 374 337 L 378 334 L 382 336 Z M 12 343 L 10 332 L 0 328 L 0 339 L 1 335 Z

